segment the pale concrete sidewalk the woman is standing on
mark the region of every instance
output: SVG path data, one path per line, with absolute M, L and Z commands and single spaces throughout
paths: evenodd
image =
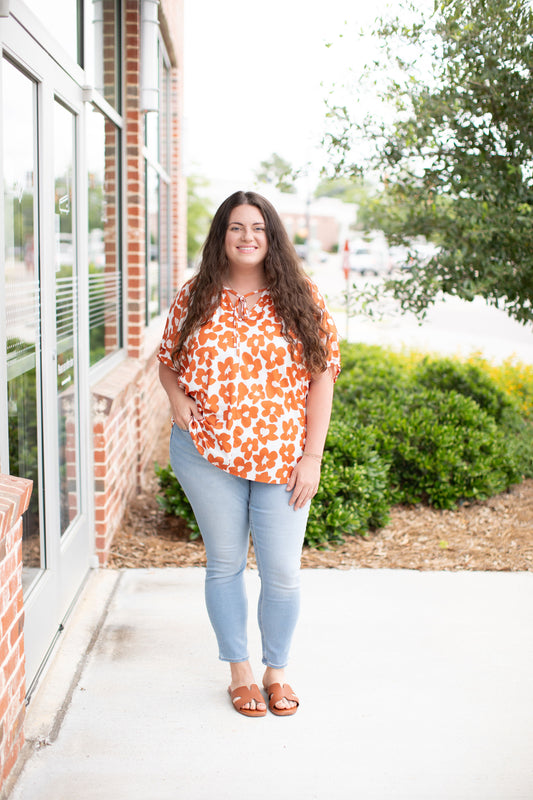
M 261 719 L 231 707 L 203 575 L 91 575 L 10 800 L 533 798 L 533 573 L 304 570 L 301 708 Z

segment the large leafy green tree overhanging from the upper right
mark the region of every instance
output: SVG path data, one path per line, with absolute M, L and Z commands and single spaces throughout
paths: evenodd
M 429 262 L 419 260 L 407 277 L 388 281 L 404 309 L 423 313 L 439 292 L 467 300 L 480 295 L 530 323 L 529 0 L 435 0 L 429 18 L 416 13 L 410 24 L 379 20 L 376 30 L 389 69 L 379 95 L 394 103 L 394 118 L 377 123 L 353 118 L 347 106 L 330 108 L 334 171 L 378 176 L 381 191 L 366 211 L 391 244 L 425 236 L 438 245 Z M 361 135 L 372 150 L 353 159 Z

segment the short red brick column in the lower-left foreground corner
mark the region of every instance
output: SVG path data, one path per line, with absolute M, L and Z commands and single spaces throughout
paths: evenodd
M 22 514 L 32 481 L 0 474 L 0 785 L 24 743 L 25 664 Z

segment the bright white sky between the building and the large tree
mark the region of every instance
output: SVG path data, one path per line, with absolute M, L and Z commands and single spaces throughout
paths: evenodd
M 323 160 L 324 100 L 368 59 L 355 33 L 390 3 L 312 5 L 185 0 L 187 173 L 239 184 L 274 152 L 293 167 Z

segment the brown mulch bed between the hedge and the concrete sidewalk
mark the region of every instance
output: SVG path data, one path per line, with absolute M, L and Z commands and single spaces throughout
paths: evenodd
M 154 461 L 168 461 L 168 425 L 158 437 Z M 108 566 L 204 566 L 200 539 L 177 517 L 158 506 L 157 478 L 152 468 L 143 489 L 129 504 L 115 536 Z M 253 551 L 250 565 L 254 564 Z M 416 570 L 533 570 L 533 480 L 480 503 L 465 503 L 457 511 L 425 506 L 396 506 L 387 527 L 366 537 L 347 537 L 329 550 L 305 547 L 303 567 L 354 567 Z

